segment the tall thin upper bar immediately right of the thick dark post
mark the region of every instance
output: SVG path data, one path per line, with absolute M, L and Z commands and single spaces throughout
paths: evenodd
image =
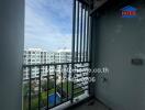
M 78 43 L 79 43 L 79 1 L 78 1 L 78 6 L 77 6 L 77 51 L 76 51 L 76 54 L 77 54 L 77 58 L 76 58 L 76 62 L 78 62 Z

